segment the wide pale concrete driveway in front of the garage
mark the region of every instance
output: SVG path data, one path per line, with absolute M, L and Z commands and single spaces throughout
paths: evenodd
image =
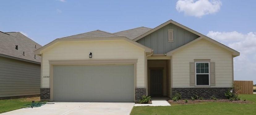
M 1 115 L 129 115 L 133 102 L 52 102 L 36 108 L 23 108 Z

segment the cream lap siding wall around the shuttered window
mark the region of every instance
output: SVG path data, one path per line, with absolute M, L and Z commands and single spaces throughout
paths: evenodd
M 215 86 L 231 87 L 233 83 L 232 54 L 207 40 L 199 40 L 190 46 L 173 53 L 173 88 L 190 86 L 190 62 L 207 59 L 215 62 Z

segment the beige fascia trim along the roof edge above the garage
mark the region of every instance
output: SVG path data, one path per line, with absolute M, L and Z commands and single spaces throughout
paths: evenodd
M 146 47 L 140 43 L 134 42 L 132 40 L 130 40 L 127 37 L 105 37 L 105 38 L 70 38 L 70 39 L 55 39 L 52 42 L 46 44 L 45 46 L 37 49 L 35 52 L 36 55 L 41 55 L 41 51 L 43 51 L 44 49 L 46 49 L 49 46 L 52 46 L 53 44 L 57 43 L 57 42 L 65 42 L 65 41 L 98 41 L 98 40 L 125 40 L 129 43 L 132 43 L 138 47 L 141 47 L 143 49 L 145 49 L 145 52 L 151 52 L 153 51 L 151 48 Z

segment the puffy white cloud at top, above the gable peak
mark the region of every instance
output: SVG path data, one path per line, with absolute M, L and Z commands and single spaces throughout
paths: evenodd
M 207 14 L 214 14 L 220 10 L 220 0 L 178 0 L 176 10 L 184 12 L 185 15 L 202 17 Z

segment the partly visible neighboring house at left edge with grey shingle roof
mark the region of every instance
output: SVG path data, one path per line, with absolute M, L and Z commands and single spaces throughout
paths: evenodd
M 20 32 L 0 31 L 0 99 L 40 95 L 40 47 Z

